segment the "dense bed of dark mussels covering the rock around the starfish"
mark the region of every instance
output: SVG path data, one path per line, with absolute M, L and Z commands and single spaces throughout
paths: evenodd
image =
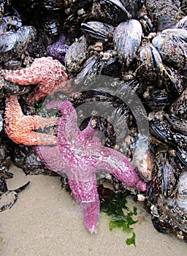
M 0 65 L 2 69 L 28 67 L 36 58 L 52 56 L 77 80 L 83 93 L 73 104 L 107 101 L 121 111 L 130 132 L 126 146 L 115 145 L 110 122 L 96 117 L 96 127 L 107 146 L 133 158 L 137 142 L 131 110 L 110 91 L 85 91 L 87 79 L 104 75 L 122 81 L 141 99 L 150 139 L 141 170 L 148 183 L 145 205 L 153 225 L 162 233 L 187 238 L 187 1 L 186 0 L 27 0 L 0 1 Z M 86 79 L 85 79 L 86 78 Z M 115 86 L 115 85 L 114 85 Z M 123 91 L 123 88 L 116 90 Z M 0 80 L 1 176 L 9 158 L 26 173 L 54 175 L 29 146 L 17 145 L 4 132 L 5 99 L 18 94 L 23 113 L 38 105 L 26 101 L 33 91 Z M 123 119 L 123 120 L 122 120 Z M 84 126 L 84 124 L 82 124 Z M 126 147 L 128 146 L 128 149 Z M 116 189 L 123 189 L 114 178 Z M 1 188 L 0 188 L 1 189 Z

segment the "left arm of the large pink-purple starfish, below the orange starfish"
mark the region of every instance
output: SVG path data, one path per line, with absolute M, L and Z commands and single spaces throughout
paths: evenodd
M 34 146 L 34 150 L 47 168 L 56 173 L 66 173 L 64 159 L 56 146 Z

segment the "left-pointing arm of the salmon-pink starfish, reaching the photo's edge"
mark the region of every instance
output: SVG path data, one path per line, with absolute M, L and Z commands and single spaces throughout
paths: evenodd
M 18 83 L 21 86 L 34 85 L 39 83 L 39 79 L 34 75 L 31 67 L 18 70 L 2 69 L 1 74 L 5 80 L 12 83 Z

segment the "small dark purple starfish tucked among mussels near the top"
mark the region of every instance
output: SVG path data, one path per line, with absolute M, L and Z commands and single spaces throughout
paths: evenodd
M 62 34 L 61 37 L 59 37 L 59 39 L 53 43 L 53 45 L 48 45 L 48 55 L 54 59 L 58 59 L 58 61 L 64 62 L 66 52 L 69 49 L 69 45 L 64 44 L 65 39 L 66 37 Z

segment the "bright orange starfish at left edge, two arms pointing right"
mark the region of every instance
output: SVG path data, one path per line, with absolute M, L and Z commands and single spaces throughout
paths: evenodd
M 58 124 L 58 118 L 41 116 L 25 116 L 20 108 L 16 95 L 7 97 L 5 110 L 5 131 L 15 143 L 24 145 L 55 145 L 57 137 L 34 132 L 33 129 L 50 127 Z

